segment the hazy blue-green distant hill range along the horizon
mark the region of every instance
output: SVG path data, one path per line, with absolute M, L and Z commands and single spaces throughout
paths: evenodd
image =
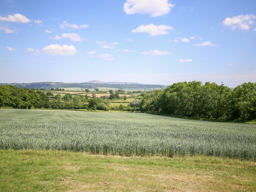
M 96 87 L 111 87 L 116 89 L 141 89 L 141 90 L 150 90 L 150 89 L 164 89 L 165 85 L 157 84 L 140 84 L 140 83 L 126 83 L 126 82 L 101 82 L 93 80 L 85 83 L 62 83 L 62 82 L 35 82 L 35 83 L 0 83 L 0 85 L 13 85 L 20 88 L 70 88 L 70 87 L 81 87 L 81 88 L 96 88 Z

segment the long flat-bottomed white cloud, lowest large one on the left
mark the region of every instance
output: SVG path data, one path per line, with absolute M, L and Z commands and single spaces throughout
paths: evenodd
M 72 55 L 77 52 L 74 45 L 48 45 L 45 46 L 43 49 L 44 53 L 50 55 Z

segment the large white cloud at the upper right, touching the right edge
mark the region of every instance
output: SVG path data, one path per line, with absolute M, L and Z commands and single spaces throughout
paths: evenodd
M 250 25 L 253 24 L 254 19 L 256 19 L 256 16 L 253 14 L 237 15 L 233 16 L 232 18 L 227 17 L 225 20 L 222 21 L 222 24 L 227 27 L 231 27 L 232 30 L 248 30 L 251 28 Z

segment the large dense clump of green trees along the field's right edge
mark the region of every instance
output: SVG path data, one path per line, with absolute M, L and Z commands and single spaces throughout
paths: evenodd
M 256 83 L 243 83 L 234 90 L 216 83 L 179 82 L 144 96 L 143 111 L 207 119 L 256 118 Z

